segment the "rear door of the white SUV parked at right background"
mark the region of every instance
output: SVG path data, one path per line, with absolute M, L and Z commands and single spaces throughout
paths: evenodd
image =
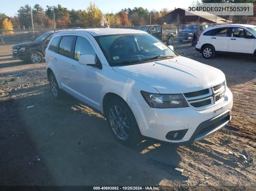
M 216 51 L 228 52 L 228 42 L 230 36 L 230 27 L 217 28 L 214 36 L 211 37 L 210 43 Z

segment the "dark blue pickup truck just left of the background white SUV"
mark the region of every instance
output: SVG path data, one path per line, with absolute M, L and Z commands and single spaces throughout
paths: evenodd
M 189 24 L 179 31 L 179 42 L 183 40 L 193 40 L 194 34 L 198 36 L 208 25 Z

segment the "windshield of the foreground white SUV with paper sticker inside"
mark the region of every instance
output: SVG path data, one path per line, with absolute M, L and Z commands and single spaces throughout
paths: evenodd
M 178 54 L 150 34 L 117 34 L 95 37 L 109 65 L 128 65 Z

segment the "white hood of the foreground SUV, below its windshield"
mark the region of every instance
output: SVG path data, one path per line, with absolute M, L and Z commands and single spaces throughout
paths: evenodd
M 199 91 L 225 80 L 221 70 L 182 56 L 112 68 L 116 72 L 154 87 L 161 94 Z M 143 89 L 143 91 L 147 90 Z

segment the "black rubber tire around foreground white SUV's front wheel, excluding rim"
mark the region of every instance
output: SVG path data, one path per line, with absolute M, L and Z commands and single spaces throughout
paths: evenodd
M 113 119 L 113 117 L 111 117 L 111 114 L 112 114 L 111 109 L 113 109 L 113 107 L 115 107 L 115 106 L 121 108 L 121 110 L 125 113 L 126 119 L 128 121 L 128 124 L 126 123 L 126 125 L 128 125 L 128 127 L 129 127 L 129 129 L 128 129 L 129 132 L 127 133 L 127 131 L 126 131 L 126 134 L 128 134 L 128 137 L 126 139 L 121 139 L 120 138 L 122 127 L 115 127 L 116 128 L 115 129 L 111 126 L 111 123 L 113 125 L 113 120 L 115 120 L 115 119 Z M 137 145 L 139 142 L 142 141 L 142 135 L 141 135 L 141 132 L 139 130 L 139 127 L 138 127 L 137 121 L 135 119 L 135 116 L 132 113 L 131 108 L 128 106 L 128 104 L 124 100 L 122 100 L 119 97 L 111 99 L 108 102 L 108 105 L 107 105 L 105 111 L 106 111 L 105 116 L 106 116 L 107 121 L 108 121 L 109 129 L 111 130 L 111 133 L 112 133 L 113 137 L 115 138 L 115 140 L 117 142 L 119 142 L 120 144 L 122 144 L 126 147 L 133 147 L 133 146 Z M 119 117 L 119 118 L 121 119 L 121 117 Z M 118 134 L 118 129 L 120 131 L 119 134 Z M 122 129 L 125 129 L 125 126 L 123 126 Z

